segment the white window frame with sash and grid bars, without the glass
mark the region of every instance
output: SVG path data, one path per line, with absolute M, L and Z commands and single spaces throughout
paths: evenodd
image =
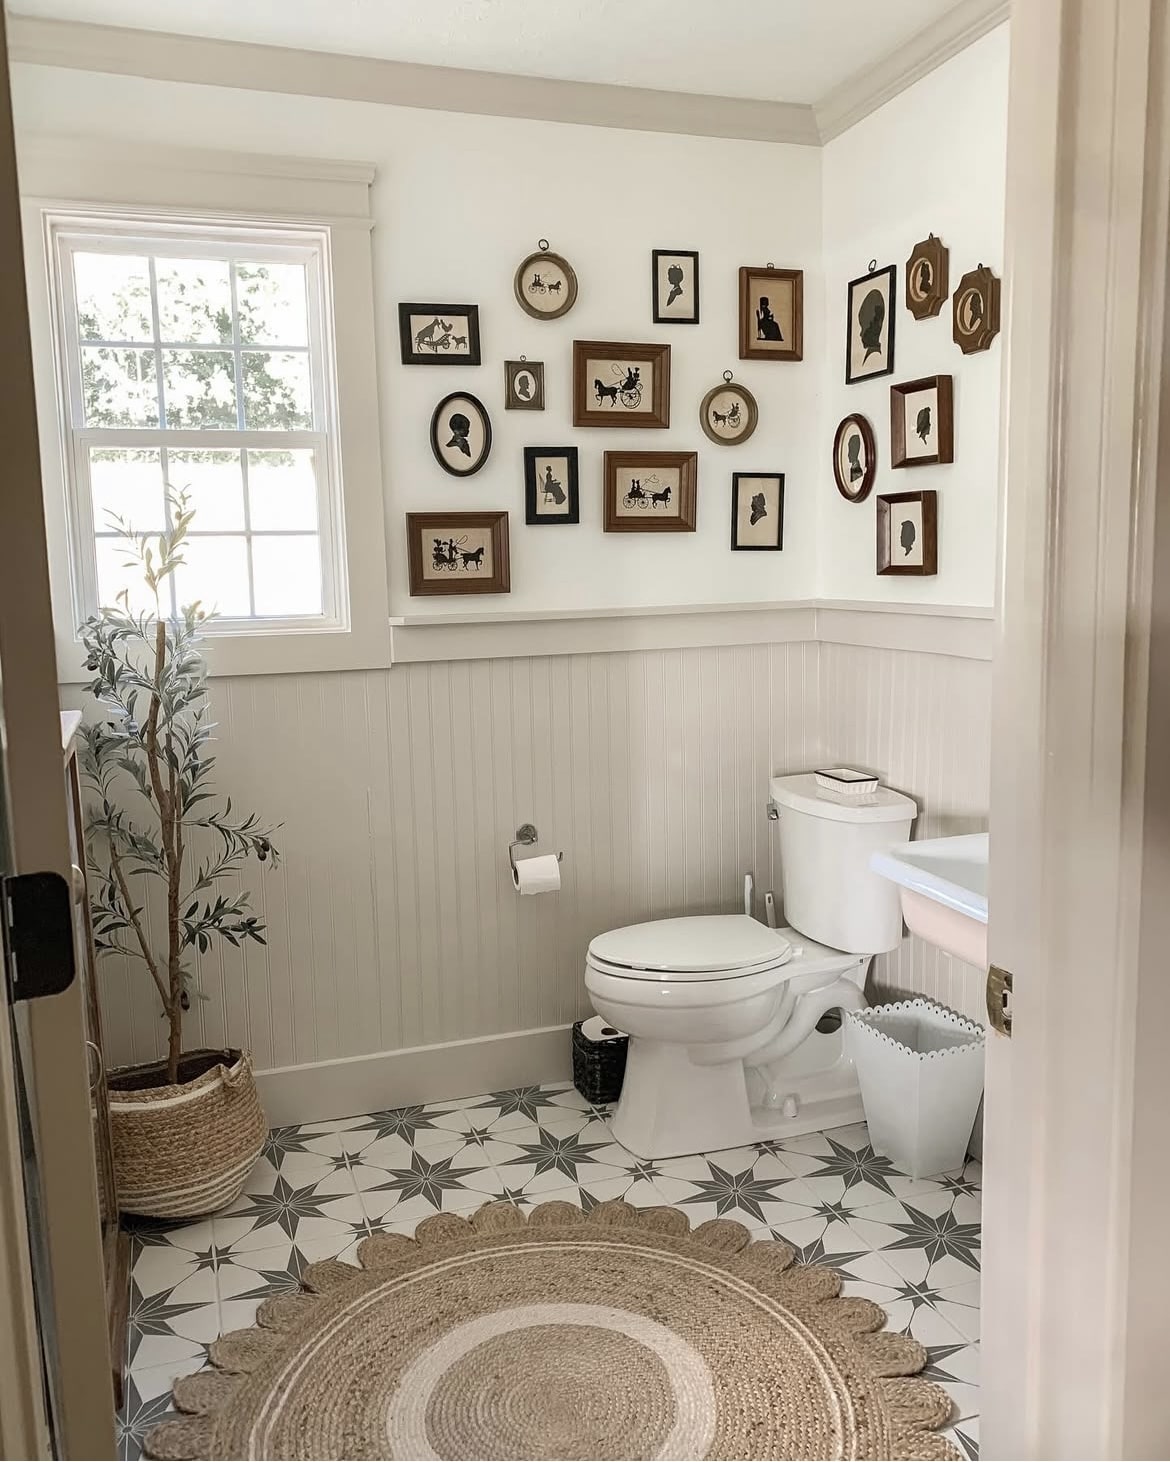
M 344 518 L 341 503 L 341 462 L 338 455 L 336 379 L 333 367 L 332 268 L 329 231 L 323 228 L 291 228 L 256 225 L 227 225 L 222 219 L 206 218 L 127 218 L 107 211 L 79 209 L 47 213 L 50 257 L 53 260 L 53 292 L 57 300 L 56 357 L 61 404 L 61 436 L 64 443 L 66 496 L 70 535 L 70 588 L 73 618 L 80 623 L 98 608 L 97 535 L 105 529 L 94 520 L 89 484 L 89 449 L 168 447 L 215 449 L 312 449 L 317 482 L 317 539 L 322 567 L 322 613 L 314 616 L 218 616 L 208 624 L 209 636 L 235 635 L 313 635 L 350 629 L 350 596 L 344 553 Z M 73 254 L 111 253 L 145 254 L 151 259 L 154 279 L 155 256 L 176 254 L 195 259 L 249 259 L 265 262 L 303 263 L 307 281 L 309 339 L 304 346 L 310 363 L 312 428 L 303 431 L 240 430 L 240 428 L 173 428 L 165 425 L 162 351 L 170 346 L 190 348 L 190 341 L 161 341 L 158 319 L 154 319 L 155 389 L 158 395 L 158 427 L 89 427 L 85 421 L 82 393 L 80 346 L 145 349 L 142 342 L 80 339 L 75 294 Z M 233 270 L 233 304 L 235 275 Z M 152 291 L 154 300 L 154 291 Z M 233 311 L 233 339 L 237 401 L 243 404 L 241 342 Z M 221 349 L 227 349 L 225 344 Z M 263 348 L 247 342 L 247 348 Z M 275 348 L 275 346 L 273 346 Z M 285 346 L 281 346 L 284 349 Z M 249 553 L 249 594 L 253 592 L 252 525 L 247 494 L 247 453 L 241 455 L 244 475 L 244 528 Z M 164 466 L 165 477 L 165 466 Z M 170 519 L 170 509 L 168 509 Z M 193 535 L 199 535 L 195 523 Z M 238 534 L 237 534 L 238 535 Z M 303 535 L 303 531 L 300 531 Z M 215 537 L 219 537 L 216 532 Z

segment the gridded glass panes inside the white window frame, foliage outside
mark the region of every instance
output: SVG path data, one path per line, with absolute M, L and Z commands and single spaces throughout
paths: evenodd
M 88 253 L 85 246 L 78 247 L 73 259 L 83 253 Z M 102 257 L 99 249 L 92 253 Z M 143 507 L 149 493 L 143 499 L 142 481 L 130 493 L 130 501 L 118 503 L 118 468 L 156 453 L 162 482 L 178 488 L 187 480 L 186 485 L 196 499 L 196 515 L 202 496 L 206 523 L 200 526 L 196 516 L 189 534 L 187 561 L 168 580 L 170 604 L 162 605 L 164 613 L 176 614 L 184 599 L 200 598 L 208 608 L 214 602 L 224 618 L 320 617 L 326 610 L 320 535 L 323 484 L 319 477 L 323 458 L 317 452 L 320 376 L 309 336 L 309 265 L 300 260 L 269 265 L 254 256 L 237 259 L 230 249 L 222 256 L 199 259 L 187 259 L 181 253 L 168 256 L 149 247 L 136 254 L 110 253 L 104 257 L 126 260 L 120 270 L 116 266 L 108 270 L 107 278 L 126 276 L 127 270 L 133 275 L 135 259 L 146 268 L 146 278 L 130 300 L 114 300 L 105 313 L 91 310 L 86 322 L 80 319 L 78 304 L 69 322 L 73 358 L 83 361 L 83 348 L 101 348 L 107 364 L 105 377 L 89 368 L 83 382 L 85 401 L 92 402 L 95 409 L 92 415 L 86 411 L 78 423 L 91 443 L 82 450 L 91 507 L 97 509 L 99 503 L 95 468 L 101 458 L 101 506 L 124 509 L 121 516 L 130 526 L 156 532 L 161 525 L 133 522 L 142 512 L 154 516 L 154 510 Z M 224 270 L 221 278 L 230 294 L 230 307 L 218 310 L 214 308 L 216 266 Z M 241 268 L 250 291 L 247 332 L 240 303 Z M 83 276 L 85 270 L 80 273 Z M 137 272 L 140 275 L 142 270 Z M 99 292 L 99 285 L 92 281 L 88 288 L 91 295 L 95 288 Z M 80 301 L 82 287 L 75 284 L 75 300 Z M 101 341 L 95 330 L 105 320 L 136 319 L 145 323 L 146 307 L 151 339 L 133 342 L 135 376 L 118 396 L 118 380 L 116 376 L 110 379 L 108 367 L 117 363 L 113 348 L 120 345 L 124 352 L 126 345 Z M 135 310 L 139 311 L 136 317 Z M 173 327 L 180 320 L 189 323 L 186 330 Z M 170 339 L 171 335 L 189 335 L 190 339 Z M 101 420 L 102 415 L 105 420 Z M 256 444 L 256 436 L 269 430 L 279 439 L 272 450 Z M 113 440 L 104 446 L 107 431 Z M 192 444 L 192 437 L 202 431 L 214 437 L 206 449 Z M 171 444 L 176 433 L 183 436 Z M 246 434 L 250 442 L 231 443 L 233 436 Z M 252 522 L 253 458 L 265 468 L 265 522 L 259 529 Z M 231 472 L 233 462 L 238 477 Z M 132 485 L 129 480 L 127 485 Z M 170 503 L 164 504 L 162 515 L 170 528 Z M 99 598 L 108 598 L 133 575 L 121 567 L 126 556 L 120 553 L 108 522 L 95 520 L 92 526 Z M 257 573 L 263 579 L 263 594 L 257 591 Z

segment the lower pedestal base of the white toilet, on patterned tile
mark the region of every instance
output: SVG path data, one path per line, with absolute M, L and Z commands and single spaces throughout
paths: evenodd
M 835 1047 L 831 1063 L 801 1069 L 807 1056 L 794 1051 L 796 1060 L 777 1063 L 781 1069 L 774 1066 L 765 1080 L 743 1061 L 708 1066 L 692 1060 L 687 1047 L 630 1037 L 613 1136 L 639 1158 L 661 1159 L 864 1121 L 853 1061 L 839 1051 L 839 1038 L 825 1044 Z

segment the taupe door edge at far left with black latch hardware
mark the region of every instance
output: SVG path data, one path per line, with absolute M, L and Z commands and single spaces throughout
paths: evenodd
M 0 13 L 0 877 L 69 879 L 57 668 L 48 598 L 23 250 Z M 6 772 L 6 778 L 3 775 Z M 25 885 L 26 887 L 28 885 Z M 4 892 L 12 917 L 12 885 Z M 69 908 L 67 889 L 66 909 Z M 42 925 L 47 927 L 47 925 Z M 18 950 L 19 952 L 19 950 Z M 108 1458 L 114 1449 L 105 1282 L 79 982 L 9 1001 L 0 950 L 0 1452 Z M 28 971 L 31 961 L 16 962 Z M 16 991 L 22 988 L 18 981 Z M 23 984 L 31 993 L 32 987 Z M 20 1140 L 20 1077 L 28 1095 Z M 32 1221 L 25 1194 L 32 1200 Z M 41 1254 L 39 1269 L 35 1265 Z M 37 1311 L 34 1310 L 34 1304 Z M 39 1322 L 39 1323 L 38 1323 Z M 48 1386 L 42 1387 L 42 1368 Z

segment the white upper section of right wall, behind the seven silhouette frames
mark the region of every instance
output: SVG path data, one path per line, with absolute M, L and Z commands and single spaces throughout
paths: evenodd
M 994 602 L 1003 336 L 989 351 L 964 355 L 951 338 L 949 300 L 933 320 L 916 320 L 904 301 L 905 262 L 930 232 L 951 250 L 952 289 L 980 263 L 1002 273 L 1006 132 L 1002 25 L 823 149 L 828 348 L 816 493 L 818 588 L 825 598 Z M 847 285 L 869 272 L 870 259 L 898 266 L 895 370 L 845 386 Z M 955 461 L 894 471 L 891 383 L 935 374 L 955 383 Z M 863 504 L 837 491 L 829 452 L 838 421 L 856 411 L 869 417 L 878 439 L 878 481 Z M 939 494 L 939 572 L 879 577 L 875 499 L 918 488 Z

